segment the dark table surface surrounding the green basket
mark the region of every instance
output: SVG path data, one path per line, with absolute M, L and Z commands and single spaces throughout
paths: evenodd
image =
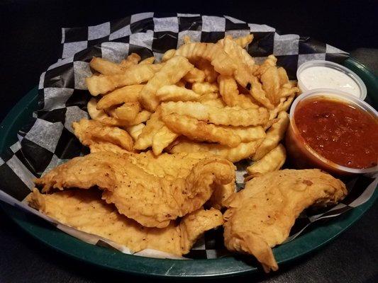
M 311 35 L 352 52 L 378 74 L 377 1 L 0 1 L 0 120 L 56 62 L 62 27 L 94 25 L 143 11 L 228 14 L 282 33 Z M 374 25 L 375 23 L 375 25 Z M 270 275 L 245 282 L 378 282 L 378 205 L 335 241 Z M 133 282 L 57 253 L 28 236 L 0 210 L 0 283 Z M 155 280 L 154 280 L 155 281 Z M 197 280 L 198 281 L 198 280 Z M 220 280 L 216 280 L 217 282 Z

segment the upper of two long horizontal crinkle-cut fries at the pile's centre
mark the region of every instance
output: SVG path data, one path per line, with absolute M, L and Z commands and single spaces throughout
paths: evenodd
M 197 102 L 167 102 L 162 103 L 162 115 L 177 113 L 187 115 L 197 120 L 216 125 L 257 126 L 264 125 L 268 120 L 266 108 L 243 109 L 239 107 L 216 108 Z

